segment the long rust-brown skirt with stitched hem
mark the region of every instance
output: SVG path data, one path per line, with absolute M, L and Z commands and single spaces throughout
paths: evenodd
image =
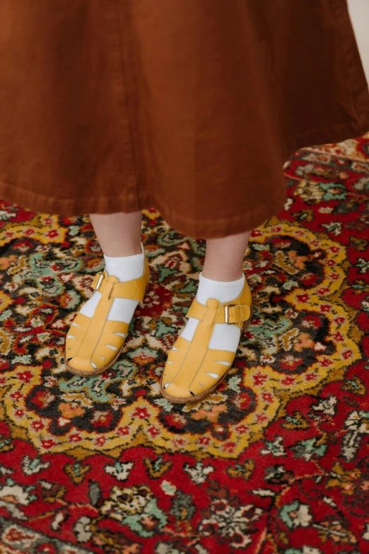
M 283 207 L 293 151 L 368 130 L 346 0 L 0 0 L 8 202 L 225 236 Z

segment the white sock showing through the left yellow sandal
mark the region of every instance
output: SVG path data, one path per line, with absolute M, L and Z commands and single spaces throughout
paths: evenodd
M 107 274 L 115 275 L 120 283 L 141 277 L 145 270 L 145 253 L 144 246 L 142 246 L 142 244 L 141 250 L 141 254 L 133 256 L 120 256 L 117 258 L 105 256 L 104 254 L 105 270 L 107 271 Z M 100 292 L 95 291 L 86 304 L 83 304 L 80 310 L 83 316 L 92 318 L 101 296 Z M 139 302 L 136 300 L 128 298 L 115 298 L 112 301 L 112 306 L 107 314 L 107 320 L 130 323 L 137 304 L 139 304 Z

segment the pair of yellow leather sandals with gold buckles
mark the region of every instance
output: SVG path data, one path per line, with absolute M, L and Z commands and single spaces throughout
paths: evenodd
M 103 272 L 95 275 L 91 287 L 102 296 L 92 318 L 77 313 L 66 336 L 64 362 L 73 374 L 98 375 L 118 359 L 124 347 L 129 325 L 107 321 L 115 298 L 143 301 L 148 289 L 148 261 L 144 274 L 138 279 L 121 283 L 114 275 Z M 209 348 L 215 323 L 229 323 L 244 329 L 252 318 L 252 299 L 245 280 L 241 294 L 230 302 L 220 304 L 209 299 L 206 306 L 196 299 L 187 317 L 199 320 L 192 341 L 178 337 L 170 350 L 160 381 L 162 395 L 172 403 L 198 402 L 223 381 L 235 359 L 234 352 Z

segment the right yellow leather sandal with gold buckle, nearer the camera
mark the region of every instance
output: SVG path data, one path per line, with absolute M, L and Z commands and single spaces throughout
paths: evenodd
M 215 323 L 237 325 L 245 330 L 252 318 L 249 286 L 229 302 L 209 299 L 206 306 L 194 299 L 187 317 L 199 320 L 191 341 L 178 337 L 170 350 L 160 380 L 160 392 L 175 404 L 198 402 L 213 392 L 225 378 L 235 359 L 235 352 L 209 348 Z

